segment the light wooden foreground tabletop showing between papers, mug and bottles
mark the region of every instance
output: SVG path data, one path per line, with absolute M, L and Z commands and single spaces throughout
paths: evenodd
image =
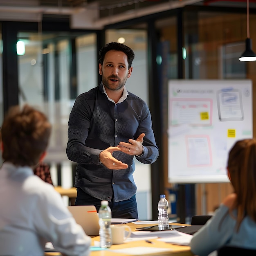
M 175 225 L 183 225 L 178 223 L 173 223 Z M 118 224 L 122 225 L 122 224 Z M 125 224 L 130 226 L 132 231 L 136 228 L 152 226 L 148 225 L 137 225 L 135 223 Z M 94 246 L 94 241 L 98 244 L 99 236 L 92 237 L 92 246 Z M 150 239 L 153 243 L 148 243 L 145 240 L 136 240 L 132 242 L 126 242 L 121 245 L 112 245 L 108 249 L 91 251 L 90 256 L 193 256 L 194 254 L 190 251 L 189 246 L 184 245 L 173 245 L 170 243 L 165 243 L 158 241 L 157 239 Z M 45 256 L 60 256 L 57 252 L 45 253 Z

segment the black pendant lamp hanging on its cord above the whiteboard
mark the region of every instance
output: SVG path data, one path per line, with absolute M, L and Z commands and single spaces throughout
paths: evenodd
M 239 61 L 256 61 L 256 54 L 252 50 L 252 40 L 250 39 L 250 30 L 249 30 L 249 0 L 246 0 L 246 25 L 247 25 L 247 39 L 245 40 L 245 52 L 239 58 Z

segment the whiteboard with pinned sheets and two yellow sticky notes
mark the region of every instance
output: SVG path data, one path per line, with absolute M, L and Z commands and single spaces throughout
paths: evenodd
M 230 148 L 252 137 L 251 80 L 168 82 L 168 182 L 229 182 Z

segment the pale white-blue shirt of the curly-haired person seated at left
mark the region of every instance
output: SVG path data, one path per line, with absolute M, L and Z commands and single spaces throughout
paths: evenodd
M 91 238 L 76 224 L 54 186 L 28 166 L 0 169 L 0 255 L 44 255 L 46 242 L 69 256 L 89 256 Z

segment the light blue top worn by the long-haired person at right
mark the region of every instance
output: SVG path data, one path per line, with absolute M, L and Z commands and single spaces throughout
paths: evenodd
M 236 232 L 237 211 L 233 211 L 234 217 L 228 211 L 228 207 L 221 204 L 214 216 L 194 234 L 190 245 L 194 254 L 207 256 L 224 245 L 256 249 L 256 222 L 245 217 Z

